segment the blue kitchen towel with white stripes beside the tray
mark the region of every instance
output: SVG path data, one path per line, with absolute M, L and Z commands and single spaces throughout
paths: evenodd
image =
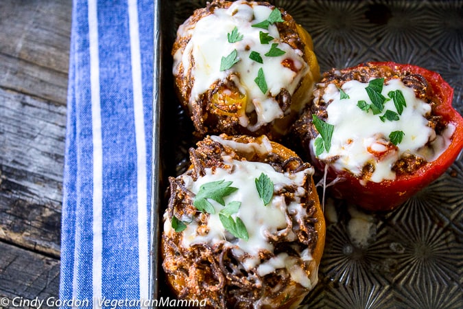
M 149 299 L 153 0 L 74 0 L 60 305 Z

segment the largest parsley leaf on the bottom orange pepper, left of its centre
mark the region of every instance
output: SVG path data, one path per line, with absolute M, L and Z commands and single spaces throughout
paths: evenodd
M 237 187 L 230 187 L 231 184 L 232 181 L 224 182 L 224 180 L 204 183 L 194 198 L 193 206 L 199 211 L 215 214 L 213 205 L 207 199 L 211 198 L 220 205 L 225 205 L 224 197 L 238 190 Z

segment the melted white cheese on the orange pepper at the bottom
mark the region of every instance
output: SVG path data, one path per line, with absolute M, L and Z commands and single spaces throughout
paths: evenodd
M 214 138 L 220 139 L 219 137 Z M 187 224 L 185 230 L 182 231 L 182 246 L 187 248 L 197 243 L 213 245 L 224 242 L 226 246 L 233 247 L 233 253 L 237 257 L 244 258 L 244 267 L 246 270 L 257 267 L 257 273 L 264 276 L 272 273 L 277 268 L 287 268 L 288 273 L 295 282 L 300 283 L 306 288 L 310 288 L 310 274 L 307 274 L 297 263 L 297 260 L 302 262 L 312 260 L 308 249 L 300 252 L 299 257 L 292 257 L 287 255 L 287 253 L 279 253 L 274 258 L 262 263 L 259 252 L 274 252 L 274 245 L 270 242 L 268 234 L 275 234 L 287 227 L 287 211 L 293 214 L 296 220 L 306 215 L 306 209 L 300 203 L 300 198 L 307 194 L 302 185 L 304 185 L 307 175 L 313 174 L 313 168 L 307 168 L 296 173 L 281 173 L 276 172 L 272 168 L 272 165 L 267 163 L 238 161 L 228 155 L 223 155 L 222 158 L 224 163 L 230 168 L 206 168 L 205 175 L 198 177 L 196 181 L 193 181 L 193 178 L 186 174 L 180 177 L 184 181 L 187 190 L 194 194 L 198 194 L 201 185 L 205 183 L 221 180 L 232 181 L 231 186 L 236 187 L 237 190 L 225 196 L 224 202 L 225 205 L 233 201 L 241 202 L 241 206 L 237 213 L 233 214 L 233 218 L 240 218 L 244 222 L 249 238 L 248 240 L 244 240 L 231 235 L 219 218 L 219 212 L 224 209 L 224 206 L 209 199 L 208 201 L 211 202 L 215 209 L 215 214 L 209 214 L 206 233 L 198 233 L 199 226 L 195 220 L 180 218 L 180 220 L 190 222 Z M 297 186 L 298 190 L 294 194 L 294 200 L 287 205 L 283 196 L 274 194 L 270 204 L 264 205 L 255 185 L 255 179 L 259 178 L 261 173 L 266 174 L 274 183 L 274 192 L 283 189 L 283 187 Z M 167 214 L 165 216 L 165 219 L 167 219 Z M 165 220 L 164 229 L 166 233 L 174 232 L 170 220 Z M 288 237 L 294 240 L 297 239 L 294 231 L 289 231 Z

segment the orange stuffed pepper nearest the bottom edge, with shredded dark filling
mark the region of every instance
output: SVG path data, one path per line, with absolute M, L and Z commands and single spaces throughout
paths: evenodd
M 207 308 L 294 308 L 318 282 L 324 217 L 313 167 L 268 137 L 211 136 L 171 177 L 163 268 Z

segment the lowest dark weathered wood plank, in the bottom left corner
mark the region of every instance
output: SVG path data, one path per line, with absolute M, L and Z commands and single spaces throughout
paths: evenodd
M 21 299 L 53 301 L 54 298 L 58 298 L 59 260 L 3 242 L 0 242 L 0 252 L 0 301 L 2 301 L 0 308 L 14 308 L 13 299 L 17 304 Z M 3 298 L 8 299 L 10 304 L 7 304 Z M 19 308 L 37 308 L 37 306 Z M 42 306 L 42 308 L 49 308 L 49 306 Z

